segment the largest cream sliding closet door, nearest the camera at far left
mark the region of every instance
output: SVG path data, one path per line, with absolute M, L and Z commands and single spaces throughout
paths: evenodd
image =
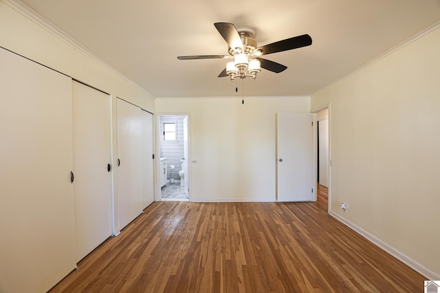
M 0 48 L 0 291 L 46 292 L 76 266 L 72 80 Z

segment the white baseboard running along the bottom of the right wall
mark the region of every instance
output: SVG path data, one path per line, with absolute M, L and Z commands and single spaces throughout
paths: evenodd
M 375 237 L 373 234 L 365 231 L 363 228 L 360 228 L 360 226 L 357 226 L 357 225 L 353 224 L 352 222 L 348 221 L 347 219 L 342 218 L 340 215 L 338 215 L 334 211 L 330 211 L 329 215 L 331 215 L 333 218 L 335 218 L 336 220 L 338 220 L 342 224 L 348 226 L 353 231 L 364 236 L 366 239 L 369 239 L 369 241 L 373 242 L 373 244 L 375 244 L 379 248 L 382 248 L 383 250 L 385 250 L 386 253 L 393 255 L 393 257 L 395 257 L 396 259 L 399 259 L 399 261 L 405 263 L 407 266 L 409 266 L 410 268 L 412 268 L 416 272 L 419 272 L 419 274 L 422 274 L 424 277 L 427 278 L 427 280 L 440 280 L 440 274 L 436 274 L 435 272 L 428 270 L 428 268 L 425 268 L 424 266 L 422 266 L 420 263 L 418 263 L 414 259 L 411 259 L 407 255 L 404 255 L 404 253 L 401 253 L 399 250 L 386 244 L 381 239 Z

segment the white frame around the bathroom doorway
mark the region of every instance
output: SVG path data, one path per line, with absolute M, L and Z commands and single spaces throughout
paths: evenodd
M 155 154 L 155 201 L 161 200 L 161 188 L 160 188 L 160 116 L 187 116 L 188 117 L 188 158 L 185 158 L 185 160 L 188 160 L 188 174 L 185 174 L 185 176 L 188 176 L 188 198 L 191 202 L 191 115 L 189 112 L 157 112 L 155 113 L 155 119 L 154 119 L 154 137 L 155 137 L 155 148 L 154 148 L 154 154 Z

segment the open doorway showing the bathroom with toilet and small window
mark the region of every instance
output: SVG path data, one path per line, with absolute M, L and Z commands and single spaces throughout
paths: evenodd
M 188 115 L 159 115 L 160 200 L 189 201 Z

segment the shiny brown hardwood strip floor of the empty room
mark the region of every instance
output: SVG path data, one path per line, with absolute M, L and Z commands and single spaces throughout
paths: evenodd
M 317 202 L 154 202 L 50 292 L 421 292 Z

